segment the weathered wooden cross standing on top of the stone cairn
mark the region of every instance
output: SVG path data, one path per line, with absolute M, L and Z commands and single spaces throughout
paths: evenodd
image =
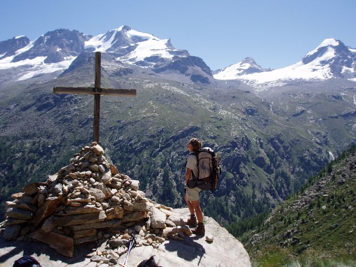
M 99 143 L 100 96 L 135 97 L 135 89 L 113 89 L 100 87 L 101 52 L 95 52 L 95 84 L 94 87 L 53 87 L 54 94 L 94 95 L 93 141 Z

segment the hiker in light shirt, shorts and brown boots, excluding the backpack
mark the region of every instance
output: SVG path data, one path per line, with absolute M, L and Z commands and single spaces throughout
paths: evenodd
M 194 229 L 193 234 L 205 235 L 205 228 L 203 224 L 203 213 L 199 206 L 199 192 L 201 189 L 199 187 L 189 187 L 188 181 L 194 177 L 199 176 L 197 154 L 202 148 L 202 141 L 197 138 L 191 138 L 187 144 L 187 150 L 189 151 L 188 159 L 186 162 L 186 186 L 185 186 L 185 196 L 184 199 L 188 205 L 190 212 L 190 217 L 188 218 L 186 224 L 189 226 L 196 226 L 198 219 L 198 227 Z

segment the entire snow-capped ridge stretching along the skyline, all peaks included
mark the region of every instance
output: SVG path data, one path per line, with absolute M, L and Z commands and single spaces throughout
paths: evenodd
M 262 68 L 252 58 L 216 71 L 203 59 L 187 50 L 173 47 L 170 39 L 159 39 L 151 33 L 138 32 L 122 25 L 106 33 L 88 35 L 77 30 L 58 29 L 33 41 L 17 36 L 0 42 L 0 82 L 42 77 L 48 81 L 65 71 L 75 58 L 86 51 L 102 51 L 113 55 L 113 62 L 151 69 L 162 77 L 178 81 L 186 76 L 193 83 L 209 84 L 218 80 L 239 80 L 255 89 L 344 78 L 356 81 L 356 49 L 340 40 L 325 39 L 296 64 L 279 69 Z M 77 63 L 76 63 L 77 64 Z

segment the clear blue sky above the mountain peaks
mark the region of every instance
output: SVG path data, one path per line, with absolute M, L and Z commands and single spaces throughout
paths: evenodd
M 213 70 L 253 57 L 298 62 L 324 39 L 356 48 L 355 0 L 2 0 L 0 40 L 67 28 L 96 35 L 128 25 L 171 39 Z

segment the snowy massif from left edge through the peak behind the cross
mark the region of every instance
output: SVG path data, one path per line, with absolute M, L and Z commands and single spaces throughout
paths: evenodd
M 201 58 L 177 50 L 170 39 L 159 39 L 121 26 L 96 36 L 65 29 L 41 35 L 34 41 L 26 36 L 0 42 L 0 82 L 20 81 L 47 74 L 55 78 L 67 69 L 78 55 L 101 51 L 114 61 L 130 66 L 151 68 L 164 75 L 175 71 L 194 82 L 208 83 L 210 68 Z M 78 62 L 76 63 L 78 64 Z M 50 75 L 49 75 L 50 74 Z

